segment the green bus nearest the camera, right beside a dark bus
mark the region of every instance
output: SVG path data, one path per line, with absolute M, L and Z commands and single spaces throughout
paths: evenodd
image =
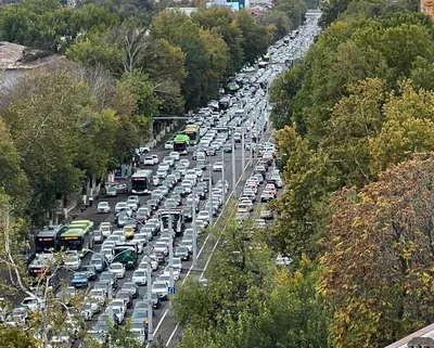
M 61 235 L 61 246 L 65 250 L 77 250 L 80 257 L 85 257 L 93 247 L 93 222 L 90 220 L 71 222 Z

